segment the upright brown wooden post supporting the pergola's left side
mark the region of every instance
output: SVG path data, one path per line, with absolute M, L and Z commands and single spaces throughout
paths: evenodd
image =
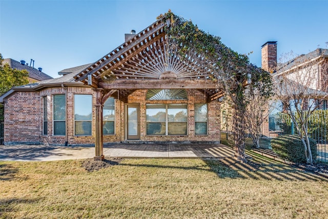
M 102 161 L 105 159 L 104 156 L 104 145 L 103 145 L 103 107 L 101 104 L 101 98 L 103 97 L 103 89 L 97 88 L 93 89 L 96 94 L 96 104 L 95 113 L 96 113 L 96 121 L 95 121 L 95 161 Z

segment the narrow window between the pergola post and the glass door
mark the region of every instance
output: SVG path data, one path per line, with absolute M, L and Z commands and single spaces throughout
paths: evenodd
M 110 135 L 115 133 L 115 99 L 110 97 L 103 108 L 103 134 Z

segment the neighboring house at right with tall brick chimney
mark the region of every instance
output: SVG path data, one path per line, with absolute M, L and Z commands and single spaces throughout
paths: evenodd
M 291 58 L 284 63 L 277 63 L 277 42 L 267 42 L 262 45 L 262 68 L 272 72 L 273 80 L 281 85 L 281 96 L 302 96 L 302 110 L 328 109 L 328 49 L 316 49 L 308 54 Z M 285 77 L 284 77 L 285 76 Z M 289 102 L 294 106 L 294 102 Z M 269 122 L 262 125 L 265 136 L 277 136 L 281 127 L 281 119 L 277 113 L 285 112 L 281 101 L 271 103 Z M 294 107 L 296 111 L 296 108 Z M 268 132 L 269 131 L 269 132 Z M 277 132 L 278 131 L 278 132 Z M 290 130 L 292 131 L 292 130 Z

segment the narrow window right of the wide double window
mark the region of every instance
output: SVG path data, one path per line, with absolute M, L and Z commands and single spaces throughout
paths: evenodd
M 195 134 L 207 134 L 207 104 L 195 104 Z

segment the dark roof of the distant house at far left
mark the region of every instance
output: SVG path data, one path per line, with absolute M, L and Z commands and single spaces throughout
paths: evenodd
M 48 74 L 37 70 L 36 68 L 29 67 L 27 65 L 22 65 L 20 62 L 17 62 L 16 60 L 12 58 L 5 58 L 3 60 L 3 64 L 8 63 L 10 68 L 12 69 L 17 69 L 17 70 L 27 70 L 29 72 L 29 76 L 32 79 L 35 79 L 36 81 L 44 81 L 47 79 L 51 79 L 52 77 L 49 76 Z

